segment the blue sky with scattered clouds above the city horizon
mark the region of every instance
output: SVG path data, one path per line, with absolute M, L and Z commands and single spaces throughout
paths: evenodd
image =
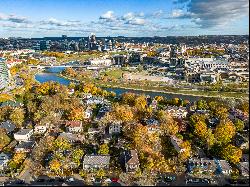
M 249 0 L 0 0 L 0 37 L 249 34 Z

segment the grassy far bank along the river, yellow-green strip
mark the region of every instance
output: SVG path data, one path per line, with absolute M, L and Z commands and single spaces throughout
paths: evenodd
M 59 73 L 60 77 L 68 79 L 70 81 L 75 81 L 75 82 L 80 82 L 80 80 L 67 77 L 65 75 L 62 75 Z M 206 98 L 225 98 L 225 99 L 237 99 L 237 98 L 248 98 L 248 94 L 244 93 L 237 93 L 237 92 L 217 92 L 217 91 L 193 91 L 193 90 L 178 90 L 178 91 L 166 91 L 166 90 L 156 90 L 156 89 L 147 89 L 147 88 L 138 88 L 140 87 L 137 85 L 136 87 L 131 87 L 131 86 L 120 86 L 120 85 L 114 85 L 114 83 L 111 84 L 105 84 L 105 83 L 96 83 L 95 84 L 99 87 L 102 88 L 121 88 L 121 89 L 127 89 L 127 90 L 135 90 L 135 91 L 145 91 L 145 92 L 156 92 L 156 93 L 163 93 L 163 94 L 179 94 L 183 96 L 193 96 L 193 97 L 206 97 Z M 187 93 L 188 92 L 188 93 Z M 190 93 L 191 92 L 191 93 Z M 195 93 L 199 92 L 199 93 Z M 201 94 L 202 93 L 202 94 Z M 234 95 L 234 96 L 228 96 L 228 95 Z

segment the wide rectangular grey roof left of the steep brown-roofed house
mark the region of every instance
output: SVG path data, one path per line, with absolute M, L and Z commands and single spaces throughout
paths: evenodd
M 108 165 L 110 160 L 109 155 L 85 155 L 83 164 L 87 165 Z

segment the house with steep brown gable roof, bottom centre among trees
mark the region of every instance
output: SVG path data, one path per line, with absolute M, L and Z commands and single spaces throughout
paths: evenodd
M 135 172 L 140 166 L 136 150 L 124 151 L 124 160 L 126 172 Z

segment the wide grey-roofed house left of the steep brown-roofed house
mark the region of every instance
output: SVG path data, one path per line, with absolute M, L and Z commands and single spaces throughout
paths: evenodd
M 83 169 L 108 169 L 110 155 L 85 155 L 83 158 Z

